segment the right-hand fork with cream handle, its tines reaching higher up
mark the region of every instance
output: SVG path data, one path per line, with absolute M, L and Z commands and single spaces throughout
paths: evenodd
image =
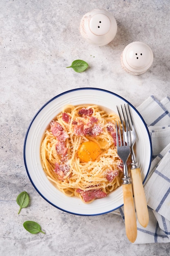
M 135 151 L 133 149 L 133 146 L 135 145 L 135 141 L 136 141 L 136 132 L 135 132 L 135 127 L 132 120 L 132 115 L 130 113 L 129 105 L 127 107 L 126 105 L 124 105 L 124 109 L 121 106 L 121 112 L 124 117 L 124 120 L 123 120 L 117 108 L 121 122 L 128 123 L 128 128 L 129 128 L 129 129 L 126 128 L 126 130 L 128 129 L 128 139 L 130 141 L 130 150 L 131 150 L 131 159 L 132 159 L 131 175 L 132 175 L 133 192 L 134 192 L 134 198 L 135 198 L 137 218 L 141 226 L 146 227 L 149 222 L 148 207 L 147 207 L 147 202 L 146 202 L 146 197 L 144 192 L 144 186 L 142 184 L 142 179 L 141 179 L 141 171 L 138 166 L 138 163 L 136 162 Z M 125 115 L 125 112 L 126 112 L 126 115 Z

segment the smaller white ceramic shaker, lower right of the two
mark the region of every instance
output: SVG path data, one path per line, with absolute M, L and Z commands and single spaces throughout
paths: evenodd
M 143 74 L 152 65 L 152 62 L 152 49 L 143 42 L 130 43 L 121 54 L 121 66 L 132 75 Z

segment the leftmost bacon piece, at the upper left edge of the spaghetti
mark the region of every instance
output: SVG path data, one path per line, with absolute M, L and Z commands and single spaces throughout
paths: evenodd
M 51 132 L 59 141 L 65 141 L 68 138 L 68 134 L 64 131 L 63 127 L 56 121 L 50 123 Z

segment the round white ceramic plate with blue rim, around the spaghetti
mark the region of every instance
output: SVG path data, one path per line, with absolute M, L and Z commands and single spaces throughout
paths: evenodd
M 131 114 L 137 132 L 137 161 L 141 168 L 143 182 L 148 175 L 151 163 L 152 146 L 148 128 L 139 112 L 121 96 L 97 88 L 79 88 L 57 95 L 48 101 L 37 112 L 26 132 L 24 140 L 24 163 L 31 183 L 38 193 L 58 209 L 77 215 L 98 215 L 114 211 L 123 205 L 122 187 L 119 187 L 106 198 L 84 204 L 79 198 L 67 197 L 57 190 L 46 177 L 41 164 L 40 144 L 51 120 L 62 111 L 66 104 L 97 104 L 106 111 L 117 112 L 121 104 L 130 105 Z

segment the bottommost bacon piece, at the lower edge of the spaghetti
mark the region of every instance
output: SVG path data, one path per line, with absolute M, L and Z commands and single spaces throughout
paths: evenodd
M 89 189 L 86 191 L 83 191 L 82 189 L 77 189 L 76 192 L 82 195 L 84 202 L 88 202 L 96 198 L 104 198 L 107 196 L 107 194 L 101 191 L 101 189 Z

